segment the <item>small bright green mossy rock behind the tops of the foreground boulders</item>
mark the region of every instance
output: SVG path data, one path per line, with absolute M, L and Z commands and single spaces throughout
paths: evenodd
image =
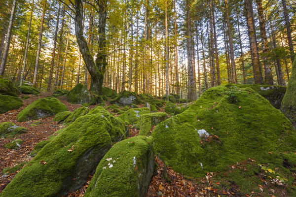
M 150 113 L 148 107 L 143 108 L 135 108 L 135 109 L 129 109 L 126 112 L 120 114 L 118 118 L 120 118 L 123 121 L 127 121 L 130 125 L 136 124 L 138 121 L 140 121 L 140 116 L 142 114 L 148 114 Z

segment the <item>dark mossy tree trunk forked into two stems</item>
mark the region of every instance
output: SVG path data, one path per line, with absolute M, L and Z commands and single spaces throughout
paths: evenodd
M 107 66 L 106 61 L 106 18 L 107 2 L 105 0 L 97 1 L 98 12 L 98 53 L 94 62 L 90 54 L 87 42 L 83 36 L 83 4 L 82 0 L 75 0 L 75 33 L 80 53 L 87 69 L 91 75 L 90 90 L 101 95 L 103 89 L 104 74 Z

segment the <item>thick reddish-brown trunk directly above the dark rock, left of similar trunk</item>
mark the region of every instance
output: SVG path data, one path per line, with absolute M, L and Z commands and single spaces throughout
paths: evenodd
M 244 0 L 244 1 L 245 1 L 245 14 L 246 14 L 246 20 L 247 20 L 247 26 L 248 26 L 252 66 L 253 66 L 253 73 L 254 73 L 254 83 L 262 84 L 263 83 L 262 73 L 260 70 L 256 31 L 254 27 L 253 5 L 251 0 Z

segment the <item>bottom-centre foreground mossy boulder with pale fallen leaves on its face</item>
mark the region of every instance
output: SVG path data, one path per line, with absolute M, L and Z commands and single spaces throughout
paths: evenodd
M 101 160 L 84 197 L 145 197 L 153 167 L 152 137 L 118 142 Z

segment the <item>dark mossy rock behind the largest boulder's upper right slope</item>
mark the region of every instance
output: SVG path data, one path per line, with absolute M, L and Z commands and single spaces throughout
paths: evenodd
M 225 87 L 237 87 L 237 88 L 252 88 L 259 95 L 267 99 L 272 106 L 279 109 L 281 108 L 282 100 L 285 96 L 287 87 L 277 85 L 259 85 L 259 84 L 234 84 L 230 83 Z

